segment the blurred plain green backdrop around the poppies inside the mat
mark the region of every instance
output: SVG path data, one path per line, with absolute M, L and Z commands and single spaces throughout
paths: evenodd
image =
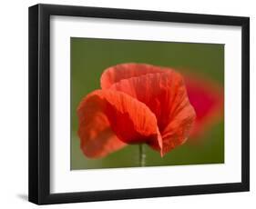
M 88 93 L 100 88 L 104 69 L 121 63 L 146 63 L 202 75 L 224 86 L 224 45 L 153 41 L 109 40 L 71 37 L 71 169 L 139 166 L 138 145 L 128 145 L 101 159 L 87 158 L 79 147 L 77 105 Z M 200 143 L 189 142 L 163 158 L 143 145 L 145 166 L 224 163 L 224 121 L 203 134 Z

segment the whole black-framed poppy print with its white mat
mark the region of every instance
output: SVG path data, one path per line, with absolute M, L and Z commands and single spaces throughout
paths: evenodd
M 249 17 L 29 8 L 29 201 L 249 191 Z

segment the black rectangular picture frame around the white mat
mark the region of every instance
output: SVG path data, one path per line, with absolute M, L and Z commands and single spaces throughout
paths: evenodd
M 50 194 L 50 16 L 81 16 L 126 20 L 241 26 L 241 183 Z M 65 204 L 187 194 L 250 190 L 250 18 L 197 15 L 70 5 L 29 7 L 29 201 Z

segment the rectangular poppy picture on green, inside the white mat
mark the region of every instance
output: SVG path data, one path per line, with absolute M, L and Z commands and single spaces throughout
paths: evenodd
M 224 164 L 224 51 L 70 37 L 70 169 Z

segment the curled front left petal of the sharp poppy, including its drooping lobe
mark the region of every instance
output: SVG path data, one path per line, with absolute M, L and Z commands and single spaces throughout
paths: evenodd
M 104 156 L 125 144 L 161 147 L 155 115 L 146 104 L 125 93 L 96 90 L 83 99 L 77 113 L 81 148 L 87 156 Z

